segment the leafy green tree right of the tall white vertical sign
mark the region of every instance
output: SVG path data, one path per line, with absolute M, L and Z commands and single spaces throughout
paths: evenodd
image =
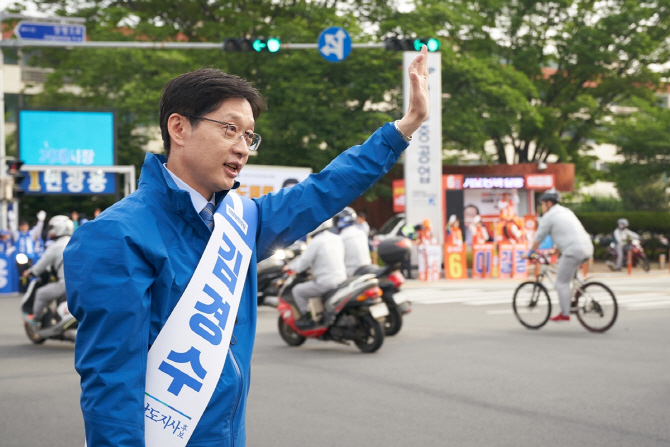
M 668 0 L 417 5 L 413 17 L 447 41 L 445 141 L 485 159 L 490 141 L 494 162 L 573 162 L 583 175 L 587 142 L 611 107 L 653 101 L 661 73 L 651 67 L 668 59 Z

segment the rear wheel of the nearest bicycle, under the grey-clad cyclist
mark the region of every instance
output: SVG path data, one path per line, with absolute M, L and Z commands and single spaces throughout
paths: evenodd
M 589 282 L 578 288 L 572 304 L 579 322 L 591 332 L 605 332 L 611 328 L 619 313 L 614 293 L 599 282 Z

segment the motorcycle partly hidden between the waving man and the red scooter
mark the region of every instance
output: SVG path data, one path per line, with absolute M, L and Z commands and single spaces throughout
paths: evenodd
M 257 299 L 258 305 L 277 307 L 279 303 L 279 289 L 281 288 L 286 273 L 283 268 L 291 259 L 300 255 L 305 249 L 305 243 L 297 241 L 288 248 L 279 249 L 267 259 L 262 260 L 256 267 L 258 281 Z

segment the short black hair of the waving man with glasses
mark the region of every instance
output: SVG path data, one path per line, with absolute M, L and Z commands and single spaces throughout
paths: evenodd
M 201 68 L 177 76 L 165 85 L 159 104 L 159 120 L 165 156 L 170 157 L 168 119 L 173 113 L 203 116 L 218 109 L 228 99 L 249 101 L 254 120 L 267 109 L 261 94 L 248 81 L 216 68 Z M 201 120 L 189 117 L 193 127 Z

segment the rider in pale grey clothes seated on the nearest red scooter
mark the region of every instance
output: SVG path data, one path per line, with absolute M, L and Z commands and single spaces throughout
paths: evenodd
M 297 273 L 311 269 L 312 278 L 293 288 L 293 298 L 301 318 L 295 324 L 299 329 L 310 329 L 316 322 L 309 315 L 309 299 L 321 297 L 347 279 L 344 265 L 344 243 L 336 234 L 328 231 L 333 227 L 333 219 L 328 219 L 309 233 L 311 240 L 302 255 L 286 267 Z

